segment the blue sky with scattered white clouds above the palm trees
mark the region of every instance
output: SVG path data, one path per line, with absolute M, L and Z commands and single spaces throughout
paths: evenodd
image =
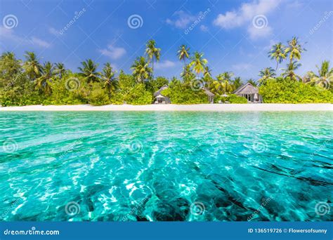
M 261 68 L 275 68 L 267 57 L 270 46 L 292 36 L 299 36 L 307 50 L 299 74 L 315 70 L 322 60 L 332 62 L 329 0 L 0 2 L 1 52 L 13 51 L 22 58 L 25 51 L 35 51 L 41 62 L 64 62 L 74 71 L 91 58 L 100 67 L 110 62 L 129 73 L 151 38 L 162 48 L 155 76 L 179 76 L 182 62 L 176 51 L 181 44 L 191 53 L 203 52 L 214 76 L 231 71 L 243 79 L 258 79 Z

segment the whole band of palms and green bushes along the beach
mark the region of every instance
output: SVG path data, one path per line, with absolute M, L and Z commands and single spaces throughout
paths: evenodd
M 123 70 L 117 73 L 109 62 L 100 67 L 91 59 L 81 62 L 73 72 L 62 62 L 41 63 L 33 52 L 25 52 L 24 60 L 6 52 L 0 56 L 0 105 L 147 105 L 164 85 L 169 88 L 162 94 L 174 104 L 209 103 L 207 91 L 214 93 L 214 102 L 246 103 L 246 98 L 233 94 L 246 82 L 259 87 L 263 102 L 332 102 L 333 68 L 324 60 L 318 71 L 299 76 L 304 51 L 296 37 L 285 45 L 275 44 L 268 53 L 276 62 L 275 68 L 263 67 L 259 79 L 247 81 L 228 71 L 213 76 L 204 53 L 191 53 L 185 45 L 175 53 L 183 65 L 181 74 L 171 79 L 155 77 L 154 64 L 162 58 L 162 50 L 153 39 L 146 44 L 145 53 L 134 60 L 131 74 Z M 278 75 L 278 66 L 284 61 L 286 67 Z

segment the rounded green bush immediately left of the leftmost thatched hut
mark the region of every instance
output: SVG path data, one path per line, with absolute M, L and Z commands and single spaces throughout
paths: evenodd
M 152 93 L 145 90 L 145 84 L 137 84 L 124 97 L 131 105 L 147 105 L 152 103 Z

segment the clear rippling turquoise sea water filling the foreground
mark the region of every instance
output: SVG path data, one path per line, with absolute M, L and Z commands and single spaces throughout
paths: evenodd
M 332 220 L 332 117 L 2 112 L 0 219 Z

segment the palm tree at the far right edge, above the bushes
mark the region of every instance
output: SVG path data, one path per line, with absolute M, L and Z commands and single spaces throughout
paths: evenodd
M 333 67 L 329 69 L 329 61 L 325 60 L 322 62 L 322 65 L 318 67 L 318 74 L 314 72 L 308 72 L 303 79 L 306 84 L 322 86 L 323 88 L 327 88 L 327 86 L 331 86 L 331 82 L 333 81 Z

